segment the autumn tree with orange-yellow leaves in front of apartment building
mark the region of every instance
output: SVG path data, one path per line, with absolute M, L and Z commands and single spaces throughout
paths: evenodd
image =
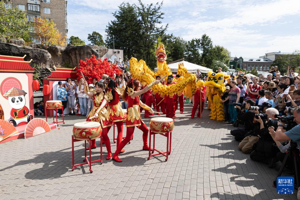
M 36 18 L 33 23 L 33 28 L 35 34 L 39 40 L 41 40 L 41 45 L 58 45 L 66 46 L 66 36 L 62 36 L 61 33 L 56 28 L 56 24 L 52 20 L 46 20 L 41 18 Z

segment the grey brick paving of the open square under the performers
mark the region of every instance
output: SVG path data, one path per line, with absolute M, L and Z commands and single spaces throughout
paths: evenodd
M 276 193 L 274 169 L 238 150 L 231 125 L 209 120 L 206 109 L 202 119 L 190 119 L 190 111 L 185 104 L 185 112 L 177 113 L 167 162 L 164 157 L 147 160 L 136 129 L 122 163 L 104 160 L 92 166 L 92 174 L 87 166 L 72 172 L 72 127 L 85 120 L 78 116 L 65 117 L 66 124 L 49 133 L 1 144 L 0 199 L 296 199 Z M 149 119 L 144 121 L 149 125 Z M 112 140 L 111 145 L 114 151 Z M 157 136 L 156 147 L 165 148 L 166 139 Z M 83 154 L 83 142 L 76 142 L 76 163 Z

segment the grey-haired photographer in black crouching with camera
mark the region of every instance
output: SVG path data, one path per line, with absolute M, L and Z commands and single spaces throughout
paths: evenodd
M 274 145 L 274 141 L 269 134 L 268 127 L 276 126 L 278 110 L 275 108 L 268 108 L 265 110 L 265 114 L 256 115 L 256 121 L 260 123 L 259 140 L 253 145 L 253 151 L 250 154 L 250 158 L 255 161 L 264 162 L 269 165 L 270 168 L 274 167 L 274 163 L 277 162 L 276 154 L 279 149 Z

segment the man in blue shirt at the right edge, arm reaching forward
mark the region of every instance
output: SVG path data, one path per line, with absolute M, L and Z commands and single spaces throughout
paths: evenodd
M 274 138 L 279 142 L 293 140 L 297 143 L 298 147 L 300 147 L 300 106 L 294 109 L 293 115 L 294 121 L 298 124 L 297 126 L 293 127 L 291 130 L 285 131 L 283 129 L 284 123 L 279 121 L 276 132 L 274 131 L 274 127 L 269 127 L 269 132 L 271 135 L 275 134 Z

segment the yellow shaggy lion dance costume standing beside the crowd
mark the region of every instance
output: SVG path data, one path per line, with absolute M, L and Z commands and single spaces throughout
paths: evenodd
M 225 91 L 224 80 L 229 79 L 229 77 L 229 75 L 224 75 L 222 72 L 208 72 L 208 78 L 204 85 L 206 86 L 206 96 L 211 102 L 209 116 L 212 120 L 223 121 L 225 119 L 224 105 L 221 103 L 221 96 Z

